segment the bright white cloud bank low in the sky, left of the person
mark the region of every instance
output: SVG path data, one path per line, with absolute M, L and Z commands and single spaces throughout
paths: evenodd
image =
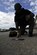
M 15 27 L 14 12 L 5 13 L 0 11 L 0 20 L 0 28 L 10 28 L 11 26 Z

